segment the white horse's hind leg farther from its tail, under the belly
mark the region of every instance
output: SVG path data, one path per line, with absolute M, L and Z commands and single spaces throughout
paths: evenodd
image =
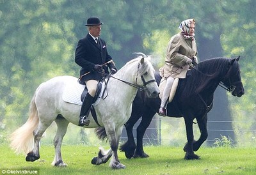
M 54 137 L 55 157 L 52 162 L 52 166 L 65 167 L 67 166 L 67 164 L 63 162 L 61 157 L 61 144 L 63 141 L 63 137 L 67 132 L 67 127 L 69 122 L 67 121 L 67 119 L 63 118 L 60 115 L 55 119 L 55 122 L 58 129 Z

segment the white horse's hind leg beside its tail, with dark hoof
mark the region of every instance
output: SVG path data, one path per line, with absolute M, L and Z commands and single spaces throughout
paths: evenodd
M 34 148 L 26 156 L 27 162 L 34 162 L 35 160 L 38 160 L 40 158 L 40 155 L 39 155 L 40 139 L 42 138 L 42 135 L 44 134 L 45 130 L 51 125 L 51 123 L 52 121 L 45 121 L 45 123 L 42 123 L 41 120 L 39 121 L 38 127 L 33 132 Z

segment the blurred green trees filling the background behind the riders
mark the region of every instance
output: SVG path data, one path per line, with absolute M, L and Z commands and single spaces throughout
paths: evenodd
M 1 0 L 0 139 L 26 121 L 40 83 L 58 75 L 79 76 L 74 50 L 87 33 L 88 17 L 97 16 L 118 68 L 134 57 L 132 52 L 154 54 L 156 70 L 163 66 L 170 37 L 190 18 L 196 20 L 201 61 L 240 55 L 246 95 L 238 99 L 218 89 L 209 119 L 243 121 L 229 127 L 235 128 L 238 142 L 242 137 L 253 142 L 255 132 L 241 130 L 256 129 L 255 7 L 254 0 Z

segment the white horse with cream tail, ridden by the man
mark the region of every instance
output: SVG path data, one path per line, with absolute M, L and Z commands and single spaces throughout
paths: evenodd
M 40 84 L 36 89 L 29 108 L 28 121 L 12 133 L 11 147 L 16 153 L 24 151 L 28 155 L 26 161 L 33 162 L 40 158 L 39 142 L 45 130 L 53 121 L 58 130 L 54 137 L 55 157 L 52 165 L 67 166 L 61 157 L 61 143 L 67 132 L 68 123 L 78 125 L 81 106 L 67 103 L 63 100 L 63 93 L 67 86 L 82 86 L 76 77 L 54 77 Z M 77 85 L 79 84 L 79 85 Z M 100 149 L 98 157 L 93 158 L 92 164 L 100 165 L 108 162 L 112 156 L 109 167 L 124 169 L 125 165 L 118 160 L 118 142 L 124 124 L 131 116 L 132 102 L 138 89 L 148 92 L 149 96 L 156 98 L 159 88 L 154 78 L 154 68 L 147 56 L 139 56 L 126 63 L 113 77 L 109 78 L 106 85 L 108 96 L 102 98 L 95 106 L 97 121 L 104 127 L 110 148 L 108 153 Z M 99 125 L 90 114 L 91 121 L 86 128 L 98 128 Z

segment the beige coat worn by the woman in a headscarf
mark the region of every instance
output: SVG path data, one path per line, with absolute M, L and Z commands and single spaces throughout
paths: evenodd
M 185 39 L 181 33 L 172 36 L 168 43 L 166 58 L 163 68 L 160 68 L 160 75 L 164 78 L 186 78 L 189 65 L 186 61 L 197 54 L 195 40 Z

